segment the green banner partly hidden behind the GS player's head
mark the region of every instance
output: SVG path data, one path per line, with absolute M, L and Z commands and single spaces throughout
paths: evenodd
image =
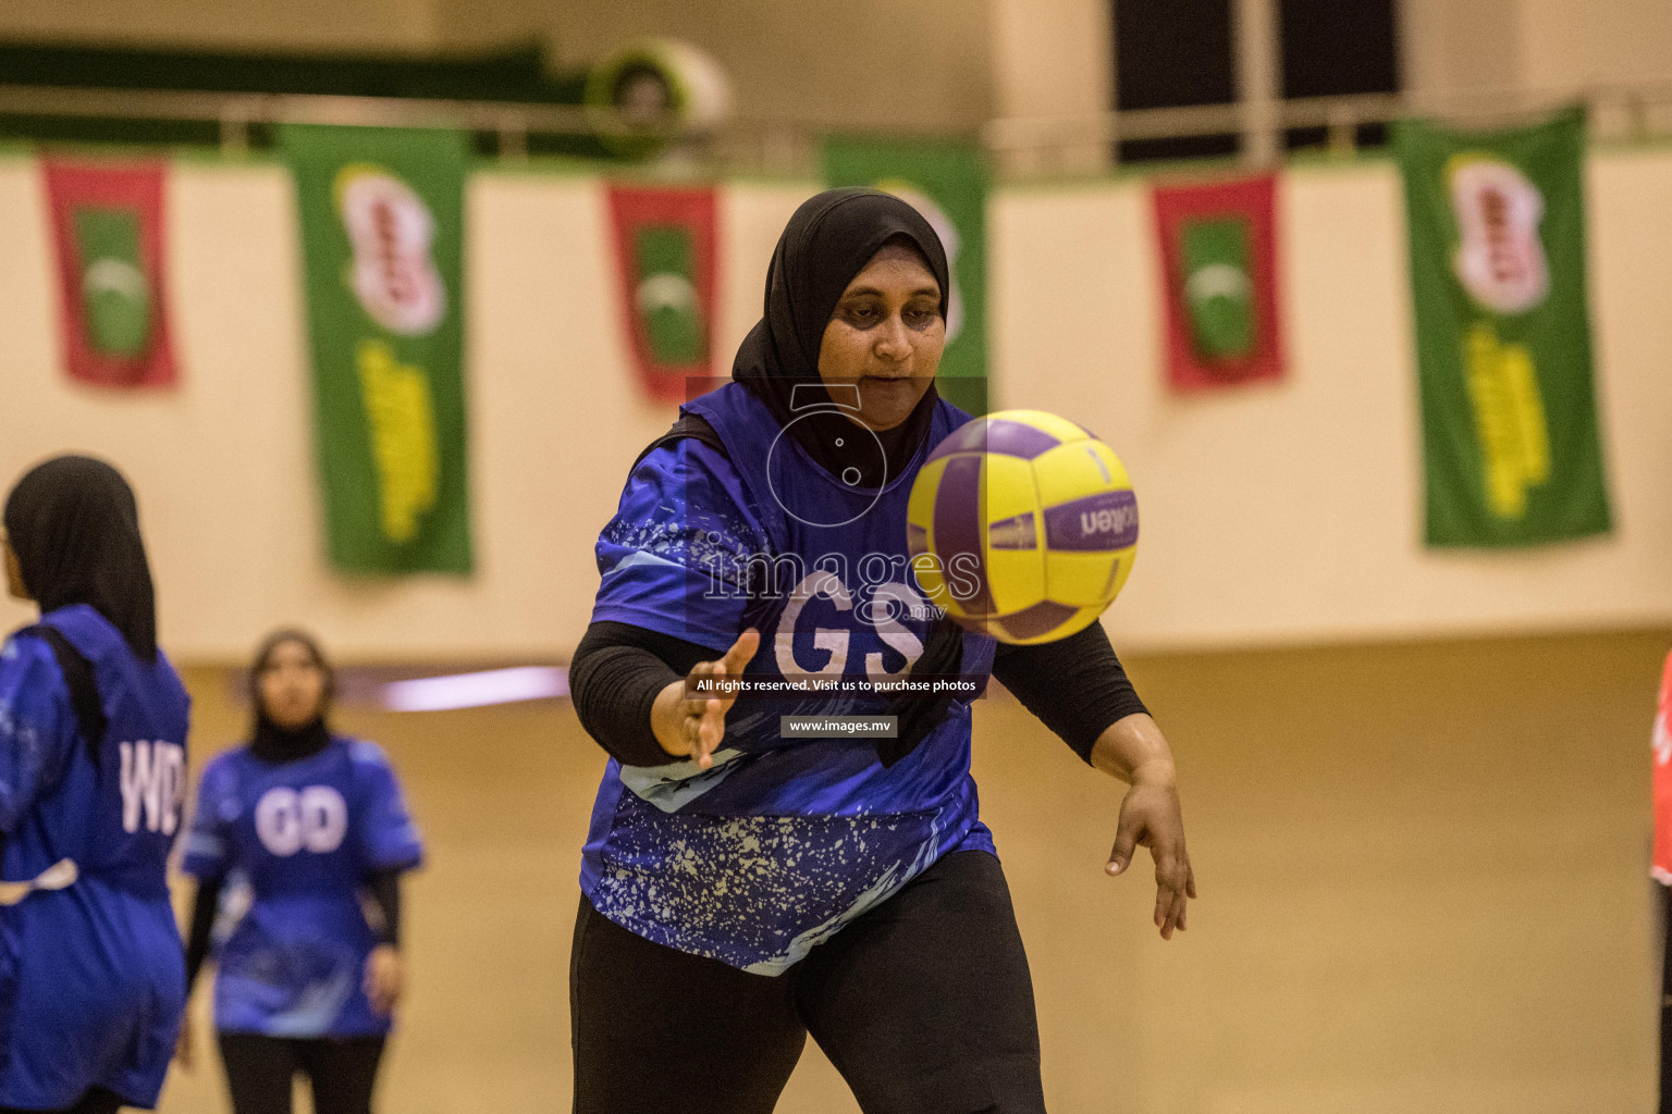
M 831 137 L 829 185 L 874 185 L 903 197 L 941 237 L 951 267 L 946 354 L 936 386 L 948 401 L 985 414 L 986 397 L 986 162 L 961 142 Z

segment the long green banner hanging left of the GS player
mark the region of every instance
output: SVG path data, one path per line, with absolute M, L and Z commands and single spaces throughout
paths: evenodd
M 468 573 L 463 132 L 281 125 L 331 565 Z

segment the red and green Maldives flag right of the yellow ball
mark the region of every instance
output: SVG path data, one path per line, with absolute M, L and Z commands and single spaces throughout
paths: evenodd
M 1276 179 L 1157 185 L 1167 381 L 1179 391 L 1282 376 Z

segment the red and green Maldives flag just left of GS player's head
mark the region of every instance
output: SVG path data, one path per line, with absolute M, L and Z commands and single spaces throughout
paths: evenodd
M 610 185 L 622 321 L 645 394 L 687 401 L 714 346 L 712 189 Z

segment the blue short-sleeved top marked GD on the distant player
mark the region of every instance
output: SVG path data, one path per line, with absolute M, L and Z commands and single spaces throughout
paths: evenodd
M 268 763 L 247 747 L 204 770 L 184 870 L 229 879 L 242 915 L 221 944 L 216 1029 L 273 1037 L 390 1030 L 363 980 L 376 945 L 361 907 L 368 873 L 423 857 L 395 772 L 373 743 L 333 738 Z M 239 900 L 242 895 L 242 900 Z

